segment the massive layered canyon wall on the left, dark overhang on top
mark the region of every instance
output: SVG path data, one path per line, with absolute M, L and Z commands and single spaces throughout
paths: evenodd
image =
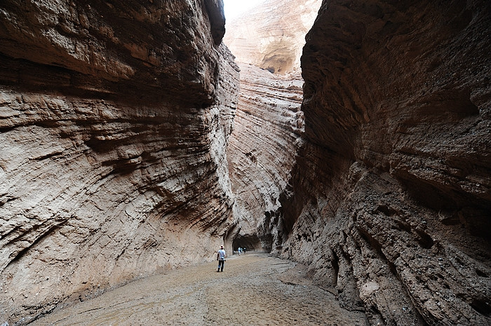
M 0 323 L 213 258 L 238 67 L 222 1 L 1 1 Z

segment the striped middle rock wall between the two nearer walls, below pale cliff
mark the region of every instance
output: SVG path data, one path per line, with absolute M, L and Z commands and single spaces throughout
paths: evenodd
M 303 131 L 300 74 L 278 75 L 239 64 L 241 90 L 227 148 L 235 196 L 234 248 L 271 251 L 278 224 L 278 199 L 285 191 Z

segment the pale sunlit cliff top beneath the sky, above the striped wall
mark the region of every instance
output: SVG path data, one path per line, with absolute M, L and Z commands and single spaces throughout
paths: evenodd
M 224 43 L 236 61 L 285 74 L 300 72 L 305 34 L 321 0 L 269 0 L 227 21 Z

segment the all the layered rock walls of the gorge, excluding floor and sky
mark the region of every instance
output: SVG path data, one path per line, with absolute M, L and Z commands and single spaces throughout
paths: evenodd
M 0 325 L 215 259 L 491 324 L 491 3 L 0 2 Z M 226 32 L 227 31 L 227 32 Z

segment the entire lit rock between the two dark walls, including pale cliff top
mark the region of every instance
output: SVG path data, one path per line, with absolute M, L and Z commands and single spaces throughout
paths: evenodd
M 235 194 L 234 248 L 276 250 L 279 198 L 302 143 L 300 53 L 320 0 L 264 1 L 227 22 L 224 43 L 241 62 L 234 131 L 227 148 Z M 271 227 L 275 226 L 275 227 Z

